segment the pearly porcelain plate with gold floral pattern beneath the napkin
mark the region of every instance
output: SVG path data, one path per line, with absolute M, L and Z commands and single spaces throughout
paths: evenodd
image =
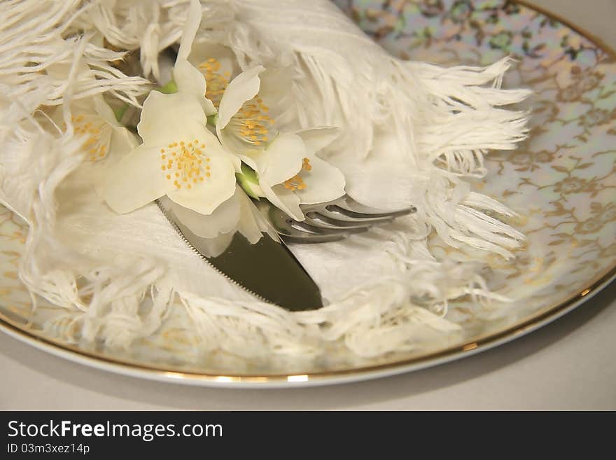
M 27 228 L 2 209 L 3 326 L 99 362 L 144 370 L 149 377 L 206 384 L 332 382 L 349 375 L 367 378 L 379 370 L 395 373 L 426 367 L 503 342 L 566 311 L 616 274 L 616 55 L 612 51 L 522 2 L 335 3 L 390 53 L 404 59 L 486 65 L 503 55 L 517 58 L 505 85 L 534 90 L 527 103 L 532 110 L 531 137 L 517 151 L 489 155 L 489 175 L 473 184 L 517 211 L 519 218 L 511 223 L 528 235 L 528 244 L 514 259 L 486 258 L 483 274 L 489 286 L 512 298 L 512 303 L 476 305 L 460 299 L 450 305 L 447 317 L 464 326 L 462 335 L 434 348 L 372 360 L 347 356 L 342 349 L 324 350 L 328 358 L 317 360 L 294 357 L 246 363 L 218 354 L 197 359 L 196 337 L 183 326 L 186 318 L 181 312 L 151 339 L 132 350 L 112 353 L 97 344 L 64 341 L 62 331 L 72 327 L 71 319 L 58 307 L 40 302 L 36 315 L 31 314 L 31 299 L 17 276 Z M 436 237 L 432 245 L 437 255 L 454 251 Z M 459 258 L 477 257 L 455 252 Z

